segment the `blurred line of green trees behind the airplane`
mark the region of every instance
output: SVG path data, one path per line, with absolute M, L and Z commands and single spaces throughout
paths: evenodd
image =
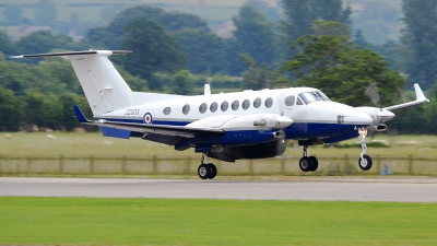
M 0 130 L 34 125 L 71 130 L 79 125 L 70 117 L 70 107 L 81 104 L 88 109 L 69 61 L 9 56 L 95 48 L 134 51 L 111 58 L 134 91 L 200 94 L 205 82 L 224 91 L 314 86 L 338 102 L 361 106 L 371 105 L 364 91 L 376 81 L 386 106 L 399 97 L 397 87 L 420 83 L 432 103 L 397 112 L 401 120 L 394 121 L 404 132 L 437 133 L 433 128 L 437 0 L 403 0 L 402 43 L 383 45 L 369 43 L 361 31 L 352 33 L 351 8 L 341 0 L 282 0 L 281 4 L 283 15 L 277 19 L 259 11 L 262 2 L 248 1 L 233 17 L 235 31 L 229 38 L 217 36 L 198 15 L 149 5 L 125 9 L 107 26 L 90 28 L 81 42 L 48 31 L 13 42 L 0 31 L 4 54 L 0 56 Z M 47 11 L 43 7 L 42 12 Z M 12 7 L 9 10 L 20 14 Z M 56 16 L 40 17 L 43 22 Z M 17 21 L 12 15 L 8 20 Z M 420 128 L 414 125 L 417 119 Z

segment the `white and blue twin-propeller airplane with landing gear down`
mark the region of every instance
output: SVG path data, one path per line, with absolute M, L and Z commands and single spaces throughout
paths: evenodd
M 177 151 L 190 148 L 201 153 L 198 175 L 214 178 L 217 169 L 206 157 L 226 162 L 267 159 L 284 153 L 293 140 L 304 147 L 299 167 L 314 172 L 318 160 L 308 147 L 339 142 L 358 137 L 362 153 L 358 166 L 371 167 L 365 138 L 387 129 L 383 122 L 397 109 L 429 102 L 414 84 L 416 101 L 390 107 L 351 107 L 329 99 L 312 87 L 247 90 L 237 93 L 182 96 L 132 92 L 108 57 L 127 50 L 85 50 L 72 52 L 22 55 L 13 58 L 62 57 L 71 61 L 93 115 L 88 120 L 78 106 L 80 122 L 102 128 L 105 137 L 141 138 L 168 145 Z

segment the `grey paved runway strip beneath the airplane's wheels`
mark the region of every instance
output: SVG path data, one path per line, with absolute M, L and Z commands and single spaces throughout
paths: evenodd
M 321 177 L 235 181 L 3 177 L 0 196 L 437 202 L 437 179 Z

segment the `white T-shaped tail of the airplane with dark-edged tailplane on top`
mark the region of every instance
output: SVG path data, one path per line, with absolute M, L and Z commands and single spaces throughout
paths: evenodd
M 13 58 L 62 57 L 71 61 L 94 116 L 134 105 L 132 90 L 109 61 L 110 55 L 125 55 L 128 50 L 85 50 L 23 55 Z

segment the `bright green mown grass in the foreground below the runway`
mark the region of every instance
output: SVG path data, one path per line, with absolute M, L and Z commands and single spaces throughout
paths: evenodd
M 0 244 L 436 245 L 437 204 L 0 197 Z

